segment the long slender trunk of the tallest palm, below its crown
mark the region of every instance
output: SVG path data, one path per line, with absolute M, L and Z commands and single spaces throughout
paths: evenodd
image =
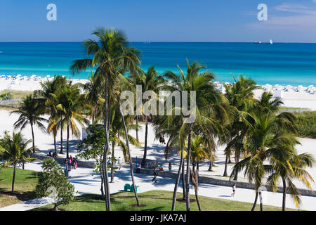
M 107 174 L 107 153 L 109 151 L 109 133 L 108 133 L 108 101 L 109 96 L 107 93 L 107 77 L 105 78 L 105 120 L 104 120 L 104 128 L 105 128 L 105 146 L 103 150 L 103 181 L 105 187 L 105 208 L 107 211 L 111 211 L 111 203 L 110 203 L 110 187 L 109 187 L 109 179 Z

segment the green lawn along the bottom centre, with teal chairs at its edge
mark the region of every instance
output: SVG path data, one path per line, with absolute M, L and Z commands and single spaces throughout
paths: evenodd
M 172 203 L 171 191 L 147 191 L 139 193 L 138 197 L 143 207 L 133 207 L 136 204 L 133 193 L 119 192 L 111 195 L 112 210 L 117 211 L 170 211 Z M 182 193 L 178 193 L 178 198 L 182 197 Z M 195 195 L 191 195 L 195 199 Z M 241 203 L 233 200 L 222 200 L 218 198 L 209 198 L 199 196 L 202 210 L 204 211 L 249 211 L 251 210 L 251 203 Z M 198 210 L 197 203 L 190 203 L 191 210 Z M 39 207 L 33 211 L 42 211 L 52 209 L 53 205 L 46 205 Z M 256 210 L 259 210 L 259 206 Z M 75 198 L 74 202 L 69 205 L 60 205 L 60 209 L 67 211 L 103 211 L 105 210 L 105 202 L 100 200 L 100 195 L 81 195 Z M 176 203 L 176 210 L 186 210 L 185 203 Z M 282 210 L 280 207 L 264 206 L 263 210 L 275 211 Z

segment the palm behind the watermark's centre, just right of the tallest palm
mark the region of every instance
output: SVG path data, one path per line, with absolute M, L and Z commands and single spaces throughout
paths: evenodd
M 157 93 L 157 91 L 162 88 L 162 84 L 164 84 L 164 78 L 157 74 L 157 71 L 154 70 L 154 66 L 150 66 L 147 72 L 133 73 L 130 75 L 130 78 L 133 80 L 133 82 L 136 85 L 142 86 L 143 93 L 145 91 L 154 91 L 155 93 Z M 145 166 L 146 157 L 147 157 L 148 118 L 152 117 L 152 115 L 144 115 L 144 116 L 145 116 L 145 146 L 144 146 L 143 160 L 141 162 L 142 167 Z

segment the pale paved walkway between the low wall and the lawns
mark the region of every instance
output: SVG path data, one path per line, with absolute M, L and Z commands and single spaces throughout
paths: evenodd
M 36 171 L 41 170 L 41 162 L 27 163 L 25 169 L 32 169 Z M 100 176 L 93 173 L 93 169 L 89 168 L 78 168 L 72 169 L 71 177 L 69 181 L 74 184 L 75 191 L 78 191 L 79 195 L 85 193 L 96 193 L 100 194 Z M 117 193 L 123 191 L 124 184 L 131 184 L 131 176 L 129 172 L 129 166 L 124 165 L 121 170 L 115 173 L 114 183 L 110 183 L 110 193 Z M 152 176 L 147 174 L 135 174 L 135 181 L 140 186 L 140 192 L 152 191 L 152 190 L 165 190 L 173 191 L 175 179 L 168 177 L 157 177 L 157 184 L 152 184 Z M 181 186 L 178 188 L 179 194 L 182 193 Z M 190 189 L 190 193 L 194 194 L 194 189 Z M 253 203 L 255 193 L 252 190 L 238 188 L 235 197 L 231 197 L 232 188 L 227 186 L 216 186 L 212 184 L 199 184 L 199 195 L 208 196 L 226 200 L 237 200 L 245 203 Z M 316 210 L 316 198 L 302 196 L 301 210 Z M 19 203 L 8 207 L 1 208 L 0 210 L 30 210 L 34 207 L 41 205 L 47 205 L 49 202 L 46 200 L 32 200 L 26 203 Z M 282 206 L 282 193 L 263 193 L 263 203 L 265 205 L 273 205 L 277 207 Z M 287 195 L 287 207 L 295 208 L 293 201 L 290 196 Z

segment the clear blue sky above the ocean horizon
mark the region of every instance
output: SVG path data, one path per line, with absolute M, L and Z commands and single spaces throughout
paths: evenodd
M 57 21 L 46 6 L 57 6 Z M 258 21 L 258 4 L 268 21 Z M 114 27 L 130 41 L 316 42 L 316 0 L 1 0 L 0 41 L 82 41 Z

